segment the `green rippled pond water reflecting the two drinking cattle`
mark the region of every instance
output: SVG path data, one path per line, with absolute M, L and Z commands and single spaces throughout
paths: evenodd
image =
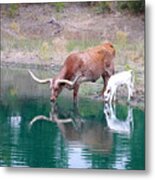
M 0 166 L 145 169 L 145 113 L 49 89 L 26 71 L 2 69 Z

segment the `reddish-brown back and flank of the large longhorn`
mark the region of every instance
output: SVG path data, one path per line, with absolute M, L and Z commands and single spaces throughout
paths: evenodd
M 110 48 L 108 49 L 108 47 Z M 84 52 L 75 52 L 70 54 L 65 63 L 64 71 L 66 79 L 73 79 L 78 74 L 92 79 L 98 79 L 106 70 L 112 71 L 113 74 L 113 58 L 115 50 L 113 46 L 104 44 L 95 48 L 90 48 Z

